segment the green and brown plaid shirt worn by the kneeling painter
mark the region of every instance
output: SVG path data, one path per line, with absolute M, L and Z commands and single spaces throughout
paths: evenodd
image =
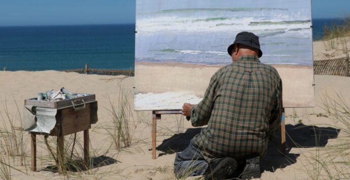
M 193 143 L 208 161 L 263 157 L 281 116 L 282 81 L 276 69 L 257 56 L 241 56 L 213 75 L 203 100 L 192 107 L 192 125 L 208 125 Z

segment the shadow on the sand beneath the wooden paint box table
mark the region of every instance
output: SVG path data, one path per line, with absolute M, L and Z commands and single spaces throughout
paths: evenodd
M 86 165 L 83 159 L 75 160 L 73 162 L 65 162 L 66 170 L 79 172 L 79 171 L 85 171 L 85 170 L 93 169 L 97 167 L 108 166 L 115 163 L 120 163 L 120 161 L 117 161 L 116 159 L 103 156 L 103 155 L 90 158 L 90 162 L 92 163 L 92 166 L 90 166 L 90 168 L 88 168 L 88 166 Z M 47 166 L 46 168 L 43 169 L 43 171 L 58 172 L 58 167 L 57 165 Z

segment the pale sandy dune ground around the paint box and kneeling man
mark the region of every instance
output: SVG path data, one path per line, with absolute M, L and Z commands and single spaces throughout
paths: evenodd
M 130 104 L 132 104 L 132 87 L 133 87 L 133 77 L 110 77 L 110 76 L 95 76 L 95 75 L 80 75 L 76 73 L 61 73 L 58 71 L 41 71 L 41 72 L 26 72 L 26 71 L 16 71 L 16 72 L 0 72 L 0 94 L 1 102 L 0 111 L 4 115 L 5 102 L 7 105 L 8 112 L 11 117 L 19 120 L 16 104 L 18 106 L 23 105 L 23 100 L 25 98 L 34 97 L 37 92 L 46 91 L 49 89 L 58 89 L 60 87 L 65 87 L 71 91 L 85 92 L 85 93 L 95 93 L 99 104 L 98 116 L 99 121 L 97 124 L 93 125 L 91 132 L 91 151 L 94 152 L 94 156 L 98 157 L 104 155 L 109 158 L 113 158 L 117 162 L 115 164 L 102 166 L 91 170 L 90 174 L 82 173 L 81 178 L 102 178 L 102 179 L 172 179 L 174 175 L 172 173 L 172 163 L 174 159 L 174 154 L 169 153 L 167 147 L 174 148 L 180 147 L 183 149 L 186 147 L 186 142 L 198 132 L 198 129 L 190 128 L 189 122 L 181 119 L 180 116 L 164 116 L 163 120 L 158 123 L 158 142 L 157 145 L 160 146 L 160 150 L 168 152 L 169 154 L 164 154 L 163 151 L 157 151 L 159 155 L 156 160 L 151 159 L 151 152 L 149 151 L 151 145 L 151 133 L 149 123 L 151 121 L 150 112 L 138 113 L 139 120 L 134 118 L 135 122 L 130 122 L 130 127 L 134 132 L 132 146 L 123 151 L 117 151 L 113 147 L 109 148 L 112 143 L 111 137 L 106 132 L 106 128 L 111 125 L 111 114 L 108 112 L 111 109 L 109 105 L 109 98 L 115 98 L 115 104 L 117 105 L 117 99 L 119 94 L 119 84 L 122 84 L 122 89 L 126 92 L 130 92 Z M 125 78 L 125 79 L 124 79 Z M 350 79 L 345 77 L 336 76 L 316 76 L 316 99 L 317 105 L 320 105 L 320 98 L 326 93 L 332 94 L 333 92 L 342 93 L 347 102 L 350 102 Z M 4 105 L 4 106 L 3 106 Z M 287 132 L 293 133 L 293 127 L 299 119 L 303 121 L 306 125 L 315 124 L 320 127 L 329 127 L 326 124 L 333 124 L 328 118 L 317 117 L 319 113 L 324 113 L 320 107 L 309 108 L 309 109 L 297 109 L 297 115 L 293 117 L 293 109 L 287 109 Z M 134 114 L 136 117 L 136 114 Z M 182 122 L 182 124 L 180 124 Z M 17 124 L 18 125 L 18 124 Z M 4 127 L 4 125 L 2 125 Z M 187 133 L 182 134 L 180 139 L 169 141 L 169 138 L 178 137 L 176 135 L 178 132 Z M 308 130 L 308 129 L 307 129 Z M 306 131 L 307 131 L 306 130 Z M 298 134 L 298 133 L 297 133 Z M 309 134 L 310 135 L 310 134 Z M 57 173 L 48 171 L 30 172 L 30 159 L 29 159 L 29 144 L 28 144 L 28 134 L 24 134 L 25 143 L 27 148 L 27 158 L 25 165 L 28 169 L 29 177 L 19 171 L 12 170 L 13 178 L 15 179 L 47 179 L 47 178 L 64 178 L 63 176 L 57 176 Z M 339 135 L 341 136 L 341 134 Z M 79 133 L 78 137 L 82 139 L 82 134 Z M 306 138 L 306 140 L 305 140 Z M 308 139 L 307 139 L 308 138 Z M 307 142 L 312 141 L 312 137 L 303 136 L 303 138 L 296 136 L 296 139 L 301 143 L 306 141 L 305 145 L 309 145 Z M 165 139 L 165 140 L 164 140 Z M 304 139 L 304 140 L 303 140 Z M 337 139 L 329 139 L 328 143 L 336 141 Z M 334 142 L 335 143 L 335 142 Z M 289 141 L 290 145 L 290 141 Z M 44 159 L 47 157 L 47 150 L 44 143 L 39 143 L 38 145 L 38 156 L 42 156 L 43 161 L 38 161 L 38 169 L 46 167 L 47 165 L 54 164 L 54 161 L 47 161 Z M 293 147 L 293 145 L 291 145 Z M 106 153 L 107 149 L 110 149 Z M 176 148 L 175 148 L 176 149 Z M 262 160 L 262 166 L 265 171 L 262 174 L 262 179 L 308 179 L 310 178 L 307 174 L 308 169 L 311 168 L 314 156 L 315 148 L 296 148 L 290 149 L 288 158 L 284 158 L 278 155 L 267 155 L 266 159 Z M 177 151 L 177 150 L 174 150 Z M 179 150 L 178 150 L 179 151 Z M 270 152 L 270 154 L 271 154 Z M 2 150 L 4 155 L 4 150 Z M 7 156 L 7 155 L 4 155 Z M 39 158 L 40 159 L 40 158 Z M 25 166 L 20 166 L 18 158 L 11 164 L 16 168 L 21 169 L 25 172 Z M 289 162 L 291 161 L 291 162 Z M 295 161 L 295 162 L 292 162 Z M 305 167 L 306 166 L 306 167 Z M 273 167 L 273 168 L 272 168 Z M 283 168 L 280 168 L 283 167 Z M 272 170 L 273 169 L 273 170 Z M 79 174 L 79 173 L 75 173 Z M 71 175 L 72 176 L 72 175 Z

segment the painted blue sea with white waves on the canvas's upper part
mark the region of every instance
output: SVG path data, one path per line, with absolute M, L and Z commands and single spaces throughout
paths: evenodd
M 297 7 L 138 10 L 136 62 L 226 65 L 232 62 L 227 47 L 236 34 L 251 31 L 260 37 L 262 62 L 312 65 L 308 11 Z

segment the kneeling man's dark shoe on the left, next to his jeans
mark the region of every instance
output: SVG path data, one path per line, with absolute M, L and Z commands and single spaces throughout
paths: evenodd
M 212 165 L 212 171 L 205 174 L 205 180 L 219 180 L 229 177 L 237 168 L 237 162 L 233 158 L 223 158 L 217 165 Z M 215 167 L 213 167 L 215 166 Z M 209 167 L 210 168 L 210 167 Z

